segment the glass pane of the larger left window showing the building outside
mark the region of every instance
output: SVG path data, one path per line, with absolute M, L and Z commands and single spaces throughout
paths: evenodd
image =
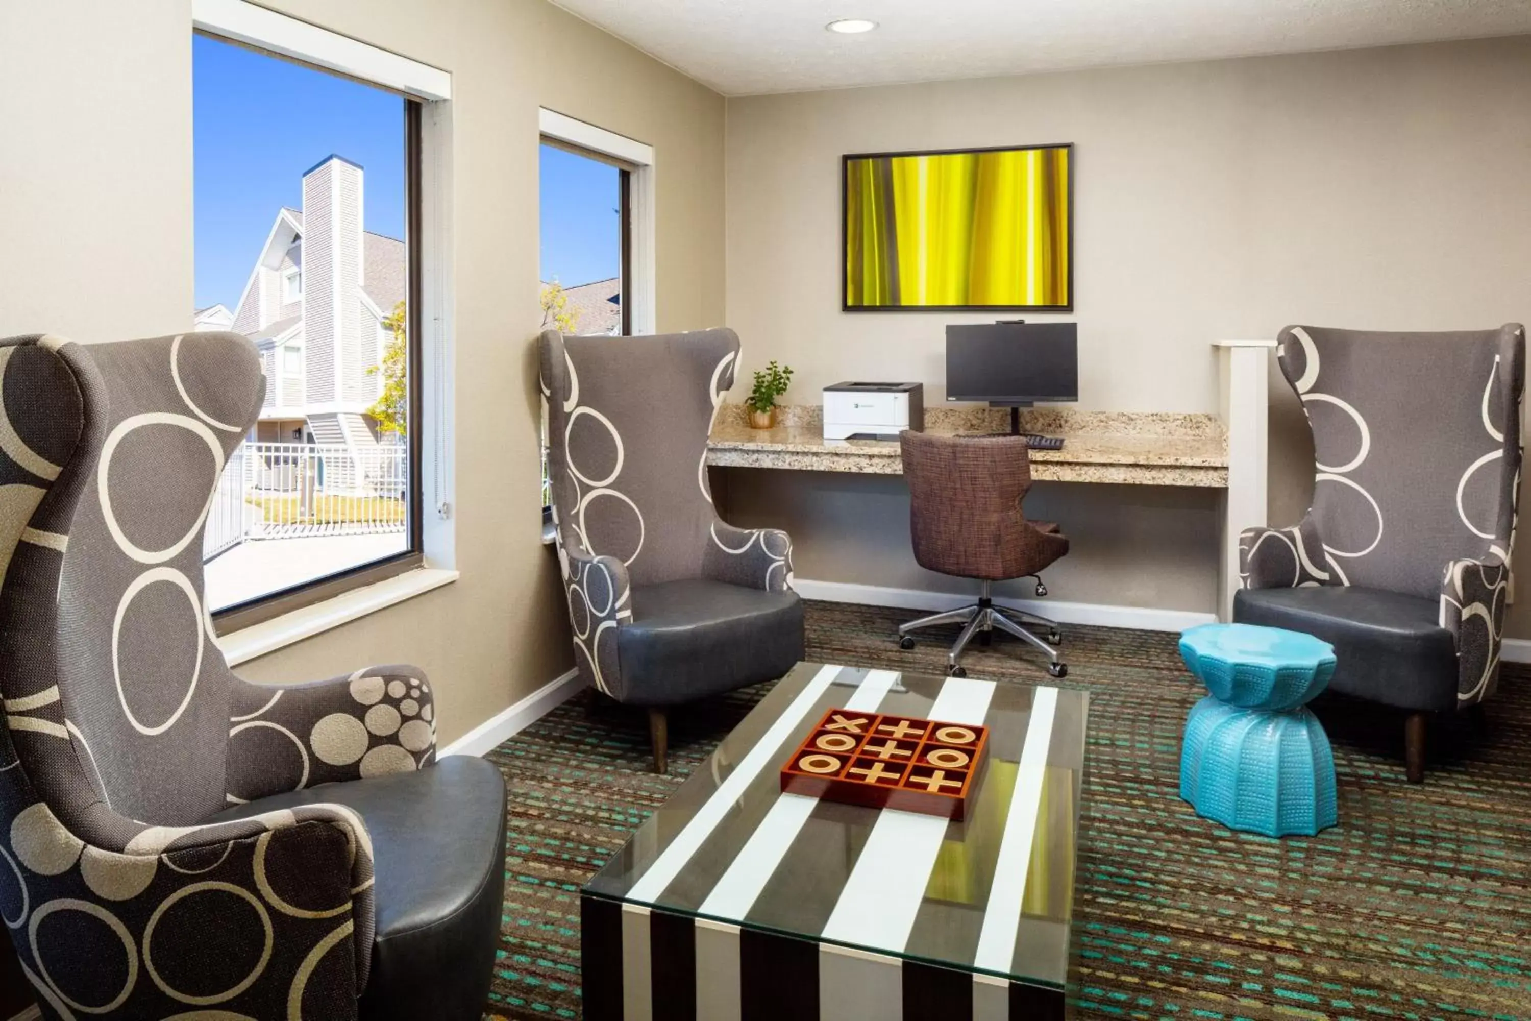
M 406 113 L 204 35 L 193 110 L 197 320 L 266 377 L 208 513 L 220 611 L 409 550 Z

